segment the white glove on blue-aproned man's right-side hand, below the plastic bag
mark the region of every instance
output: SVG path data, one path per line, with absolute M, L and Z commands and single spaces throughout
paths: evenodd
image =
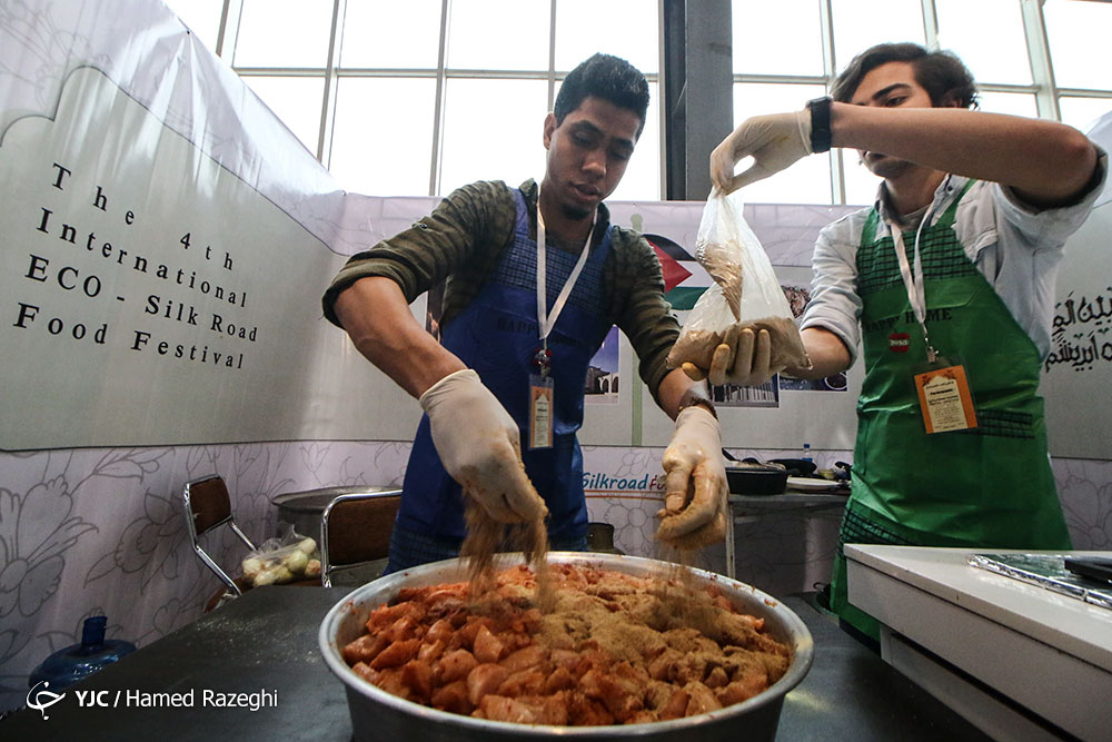
M 718 421 L 692 406 L 676 417 L 664 452 L 666 492 L 657 537 L 678 548 L 701 548 L 726 533 L 726 463 Z

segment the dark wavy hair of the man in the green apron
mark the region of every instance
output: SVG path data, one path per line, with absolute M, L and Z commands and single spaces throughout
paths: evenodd
M 965 63 L 952 52 L 927 51 L 917 43 L 878 43 L 861 52 L 834 80 L 831 97 L 850 102 L 865 76 L 888 62 L 911 62 L 915 82 L 931 96 L 933 106 L 977 107 L 976 82 Z

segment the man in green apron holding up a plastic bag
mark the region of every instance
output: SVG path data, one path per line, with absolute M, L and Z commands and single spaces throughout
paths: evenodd
M 846 597 L 845 543 L 1070 547 L 1037 387 L 1062 248 L 1108 157 L 1068 126 L 969 110 L 965 66 L 916 44 L 868 49 L 831 92 L 743 122 L 711 171 L 732 190 L 852 147 L 884 178 L 872 208 L 821 233 L 802 321 L 814 367 L 787 369 L 821 378 L 848 368 L 858 340 L 864 349 L 831 605 L 875 639 Z M 745 156 L 755 162 L 735 176 Z M 727 350 L 712 382 L 731 373 Z M 780 370 L 736 355 L 757 378 Z

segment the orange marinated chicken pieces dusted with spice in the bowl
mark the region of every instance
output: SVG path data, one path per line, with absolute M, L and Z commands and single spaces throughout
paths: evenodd
M 749 699 L 791 651 L 713 583 L 554 564 L 556 607 L 528 567 L 471 601 L 466 582 L 404 588 L 344 647 L 360 677 L 416 703 L 525 724 L 633 724 Z

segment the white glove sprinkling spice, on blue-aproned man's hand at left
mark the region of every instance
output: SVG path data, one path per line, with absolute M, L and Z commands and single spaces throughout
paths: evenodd
M 420 396 L 445 471 L 500 523 L 547 514 L 525 474 L 520 432 L 470 368 L 448 374 Z

